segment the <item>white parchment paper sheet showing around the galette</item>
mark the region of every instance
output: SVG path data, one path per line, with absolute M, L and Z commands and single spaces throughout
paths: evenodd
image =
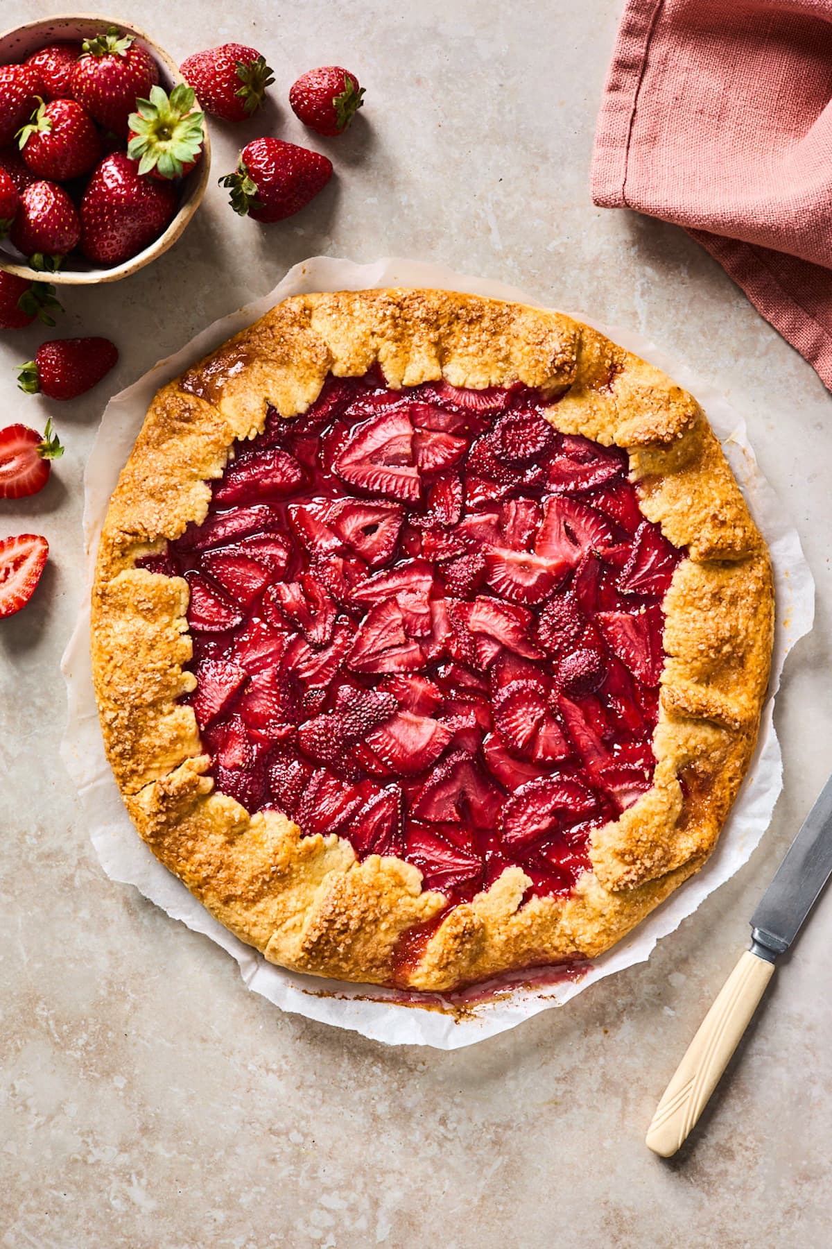
M 317 256 L 296 265 L 269 295 L 215 321 L 181 351 L 157 363 L 107 405 L 85 476 L 84 528 L 89 576 L 92 573 L 107 501 L 150 401 L 160 386 L 289 295 L 383 286 L 432 286 L 525 304 L 540 302 L 525 291 L 501 282 L 408 260 L 388 259 L 372 265 L 356 265 L 347 260 Z M 89 606 L 79 617 L 62 661 L 69 722 L 61 753 L 79 788 L 90 836 L 105 872 L 114 881 L 133 884 L 173 919 L 180 919 L 188 928 L 205 933 L 222 945 L 237 960 L 248 988 L 263 994 L 283 1010 L 339 1028 L 351 1028 L 388 1044 L 434 1045 L 439 1049 L 470 1045 L 514 1028 L 540 1010 L 564 1005 L 602 977 L 644 962 L 659 938 L 671 933 L 709 893 L 746 863 L 768 827 L 782 788 L 780 743 L 772 724 L 775 693 L 788 651 L 810 631 L 813 617 L 815 586 L 800 540 L 785 517 L 773 490 L 760 473 L 742 420 L 718 391 L 702 383 L 682 362 L 671 358 L 641 336 L 615 326 L 605 327 L 581 313 L 573 315 L 595 325 L 614 341 L 664 368 L 700 400 L 771 547 L 777 595 L 771 686 L 762 714 L 760 741 L 715 853 L 697 876 L 584 973 L 564 974 L 549 969 L 535 975 L 526 972 L 513 980 L 509 978 L 491 985 L 480 985 L 468 994 L 420 997 L 375 985 L 323 980 L 267 963 L 213 919 L 185 886 L 153 858 L 133 829 L 107 764 L 99 731 L 90 668 Z M 173 934 L 171 939 L 175 939 Z

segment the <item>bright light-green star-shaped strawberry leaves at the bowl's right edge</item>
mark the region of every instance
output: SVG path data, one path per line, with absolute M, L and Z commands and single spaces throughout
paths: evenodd
M 138 161 L 138 172 L 151 170 L 165 179 L 182 177 L 202 151 L 205 114 L 193 109 L 192 86 L 178 82 L 170 96 L 161 86 L 150 89 L 148 100 L 136 100 L 130 114 L 127 155 Z

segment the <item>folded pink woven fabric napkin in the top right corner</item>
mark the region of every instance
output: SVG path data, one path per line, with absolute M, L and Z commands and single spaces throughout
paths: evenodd
M 593 200 L 684 226 L 832 390 L 832 0 L 627 0 Z

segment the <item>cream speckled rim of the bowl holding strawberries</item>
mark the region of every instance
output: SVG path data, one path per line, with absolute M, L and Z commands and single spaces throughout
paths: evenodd
M 133 35 L 151 50 L 167 72 L 171 82 L 185 81 L 176 61 L 150 35 L 140 30 L 138 26 L 133 26 L 121 17 L 105 17 L 91 12 L 55 14 L 51 17 L 39 17 L 35 21 L 24 22 L 21 26 L 12 26 L 10 30 L 4 30 L 0 34 L 0 65 L 10 64 L 10 57 L 14 56 L 11 44 L 15 39 L 26 45 L 30 36 L 36 35 L 42 36 L 44 42 L 51 39 L 86 37 L 89 34 L 95 32 L 92 29 L 87 30 L 86 26 L 95 27 L 95 30 L 106 30 L 109 26 L 117 26 L 126 34 Z M 26 56 L 30 56 L 34 49 L 35 41 L 32 37 L 31 46 L 25 49 Z M 193 172 L 185 180 L 187 186 L 185 199 L 165 234 L 155 239 L 143 251 L 140 251 L 136 256 L 131 256 L 130 260 L 126 260 L 121 265 L 114 265 L 111 269 L 66 270 L 44 275 L 37 272 L 37 270 L 30 269 L 29 265 L 19 265 L 14 260 L 7 259 L 0 245 L 0 270 L 4 270 L 6 274 L 15 274 L 17 277 L 40 282 L 54 282 L 56 286 L 96 286 L 99 282 L 117 282 L 120 279 L 135 274 L 136 270 L 143 269 L 145 265 L 150 265 L 151 261 L 173 246 L 202 202 L 211 172 L 211 140 L 205 121 L 202 122 L 202 159 Z

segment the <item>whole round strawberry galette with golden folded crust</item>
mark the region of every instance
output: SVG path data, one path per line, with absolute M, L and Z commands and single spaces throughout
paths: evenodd
M 228 928 L 448 989 L 593 957 L 702 866 L 772 605 L 651 366 L 520 305 L 307 295 L 156 396 L 95 683 L 138 832 Z

